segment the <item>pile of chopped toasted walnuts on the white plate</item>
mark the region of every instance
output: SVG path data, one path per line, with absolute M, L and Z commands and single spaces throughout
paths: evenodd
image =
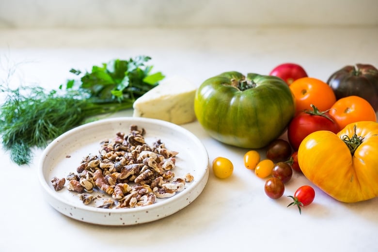
M 172 170 L 178 152 L 168 150 L 160 140 L 150 146 L 144 135 L 144 128 L 135 125 L 127 135 L 116 133 L 113 140 L 100 143 L 98 155 L 84 157 L 76 173 L 54 177 L 52 186 L 58 191 L 68 181 L 67 189 L 79 193 L 85 205 L 94 201 L 94 190 L 106 193 L 111 198 L 97 206 L 102 208 L 132 208 L 172 197 L 194 178 L 190 173 L 175 178 Z

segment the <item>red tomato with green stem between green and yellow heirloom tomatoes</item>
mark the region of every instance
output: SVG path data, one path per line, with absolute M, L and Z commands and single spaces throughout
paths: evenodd
M 340 127 L 328 111 L 319 111 L 314 105 L 313 110 L 306 110 L 295 116 L 287 127 L 287 138 L 294 150 L 298 150 L 300 142 L 310 133 L 318 130 L 329 130 L 338 133 Z

